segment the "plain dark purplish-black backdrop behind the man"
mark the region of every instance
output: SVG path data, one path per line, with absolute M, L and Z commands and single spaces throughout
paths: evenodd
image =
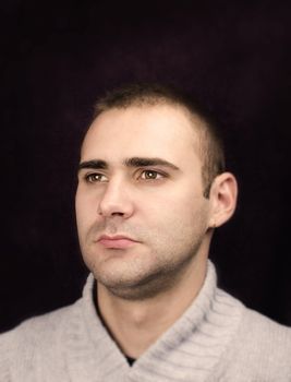
M 71 303 L 78 147 L 96 97 L 172 82 L 223 127 L 239 207 L 211 249 L 219 284 L 291 325 L 289 1 L 1 1 L 0 331 Z

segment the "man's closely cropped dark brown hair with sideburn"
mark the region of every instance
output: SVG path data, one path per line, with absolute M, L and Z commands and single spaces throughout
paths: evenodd
M 191 116 L 198 117 L 199 154 L 203 160 L 202 177 L 204 196 L 208 198 L 215 177 L 225 171 L 226 159 L 222 139 L 209 110 L 173 86 L 158 83 L 132 83 L 108 92 L 94 107 L 94 119 L 110 109 L 126 109 L 131 106 L 173 105 L 185 108 Z

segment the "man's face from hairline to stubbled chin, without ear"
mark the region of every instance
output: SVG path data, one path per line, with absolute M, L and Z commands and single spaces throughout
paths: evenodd
M 134 298 L 179 278 L 207 251 L 209 201 L 193 121 L 173 106 L 102 112 L 82 147 L 81 250 L 107 289 Z

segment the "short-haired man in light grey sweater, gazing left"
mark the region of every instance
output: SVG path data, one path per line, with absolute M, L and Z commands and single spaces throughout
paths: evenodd
M 218 289 L 207 260 L 235 202 L 199 106 L 159 85 L 108 94 L 78 168 L 83 298 L 0 337 L 1 382 L 291 381 L 291 330 Z

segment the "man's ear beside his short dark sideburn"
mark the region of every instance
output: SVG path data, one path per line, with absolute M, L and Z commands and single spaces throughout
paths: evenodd
M 238 198 L 238 183 L 231 172 L 217 176 L 210 189 L 211 215 L 209 227 L 219 227 L 234 213 Z

